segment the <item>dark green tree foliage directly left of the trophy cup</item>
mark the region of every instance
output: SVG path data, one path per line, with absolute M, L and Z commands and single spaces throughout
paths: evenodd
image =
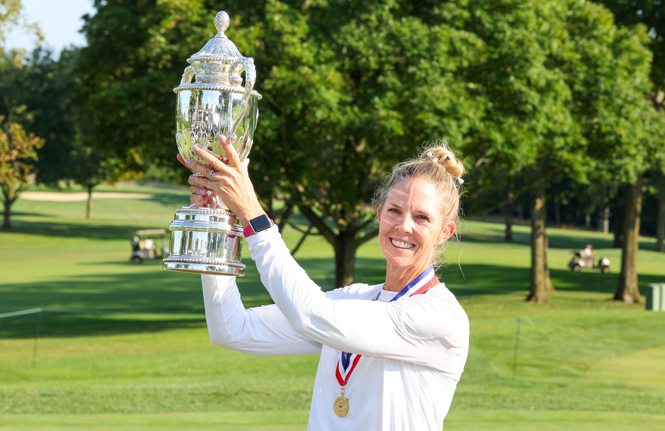
M 84 108 L 81 133 L 95 151 L 116 157 L 124 171 L 168 165 L 180 174 L 174 177 L 187 178 L 175 162 L 173 88 L 186 58 L 210 39 L 212 22 L 196 19 L 203 7 L 194 3 L 95 0 L 96 13 L 84 16 L 87 45 L 76 58 L 84 91 L 74 102 Z M 172 39 L 161 36 L 162 26 L 174 30 Z M 190 29 L 199 36 L 196 49 Z

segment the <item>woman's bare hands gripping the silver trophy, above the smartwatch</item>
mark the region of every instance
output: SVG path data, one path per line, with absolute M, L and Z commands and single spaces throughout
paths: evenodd
M 254 186 L 247 173 L 249 159 L 241 162 L 237 151 L 231 145 L 231 140 L 227 137 L 220 136 L 219 142 L 226 153 L 227 160 L 222 161 L 215 154 L 198 146 L 194 147 L 194 153 L 205 161 L 205 164 L 192 159 L 184 160 L 178 154 L 180 163 L 192 172 L 203 175 L 203 177 L 190 176 L 188 183 L 192 185 L 193 194 L 190 201 L 194 200 L 196 195 L 200 195 L 200 199 L 195 200 L 195 202 L 197 205 L 205 205 L 209 197 L 206 193 L 201 193 L 201 190 L 211 190 L 246 226 L 248 220 L 265 213 L 261 208 L 261 204 L 259 204 Z M 214 173 L 211 171 L 214 171 Z M 204 201 L 205 203 L 203 203 Z

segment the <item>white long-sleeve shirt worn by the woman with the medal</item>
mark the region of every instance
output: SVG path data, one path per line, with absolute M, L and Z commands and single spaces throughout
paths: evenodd
M 469 348 L 469 320 L 444 284 L 394 302 L 396 292 L 382 285 L 324 293 L 276 226 L 247 243 L 275 305 L 245 309 L 235 277 L 201 276 L 213 344 L 255 355 L 320 353 L 308 430 L 442 429 Z M 362 355 L 346 384 L 344 417 L 333 406 L 341 351 Z

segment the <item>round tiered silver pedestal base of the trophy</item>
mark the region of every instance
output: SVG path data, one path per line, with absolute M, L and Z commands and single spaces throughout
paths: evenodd
M 244 276 L 238 257 L 243 229 L 221 208 L 180 207 L 169 224 L 169 256 L 162 268 L 176 272 Z

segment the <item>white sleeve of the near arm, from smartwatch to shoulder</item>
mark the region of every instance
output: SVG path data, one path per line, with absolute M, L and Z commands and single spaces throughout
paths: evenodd
M 299 333 L 341 351 L 462 373 L 469 321 L 443 286 L 389 303 L 331 300 L 293 260 L 277 227 L 247 243 L 261 282 Z

